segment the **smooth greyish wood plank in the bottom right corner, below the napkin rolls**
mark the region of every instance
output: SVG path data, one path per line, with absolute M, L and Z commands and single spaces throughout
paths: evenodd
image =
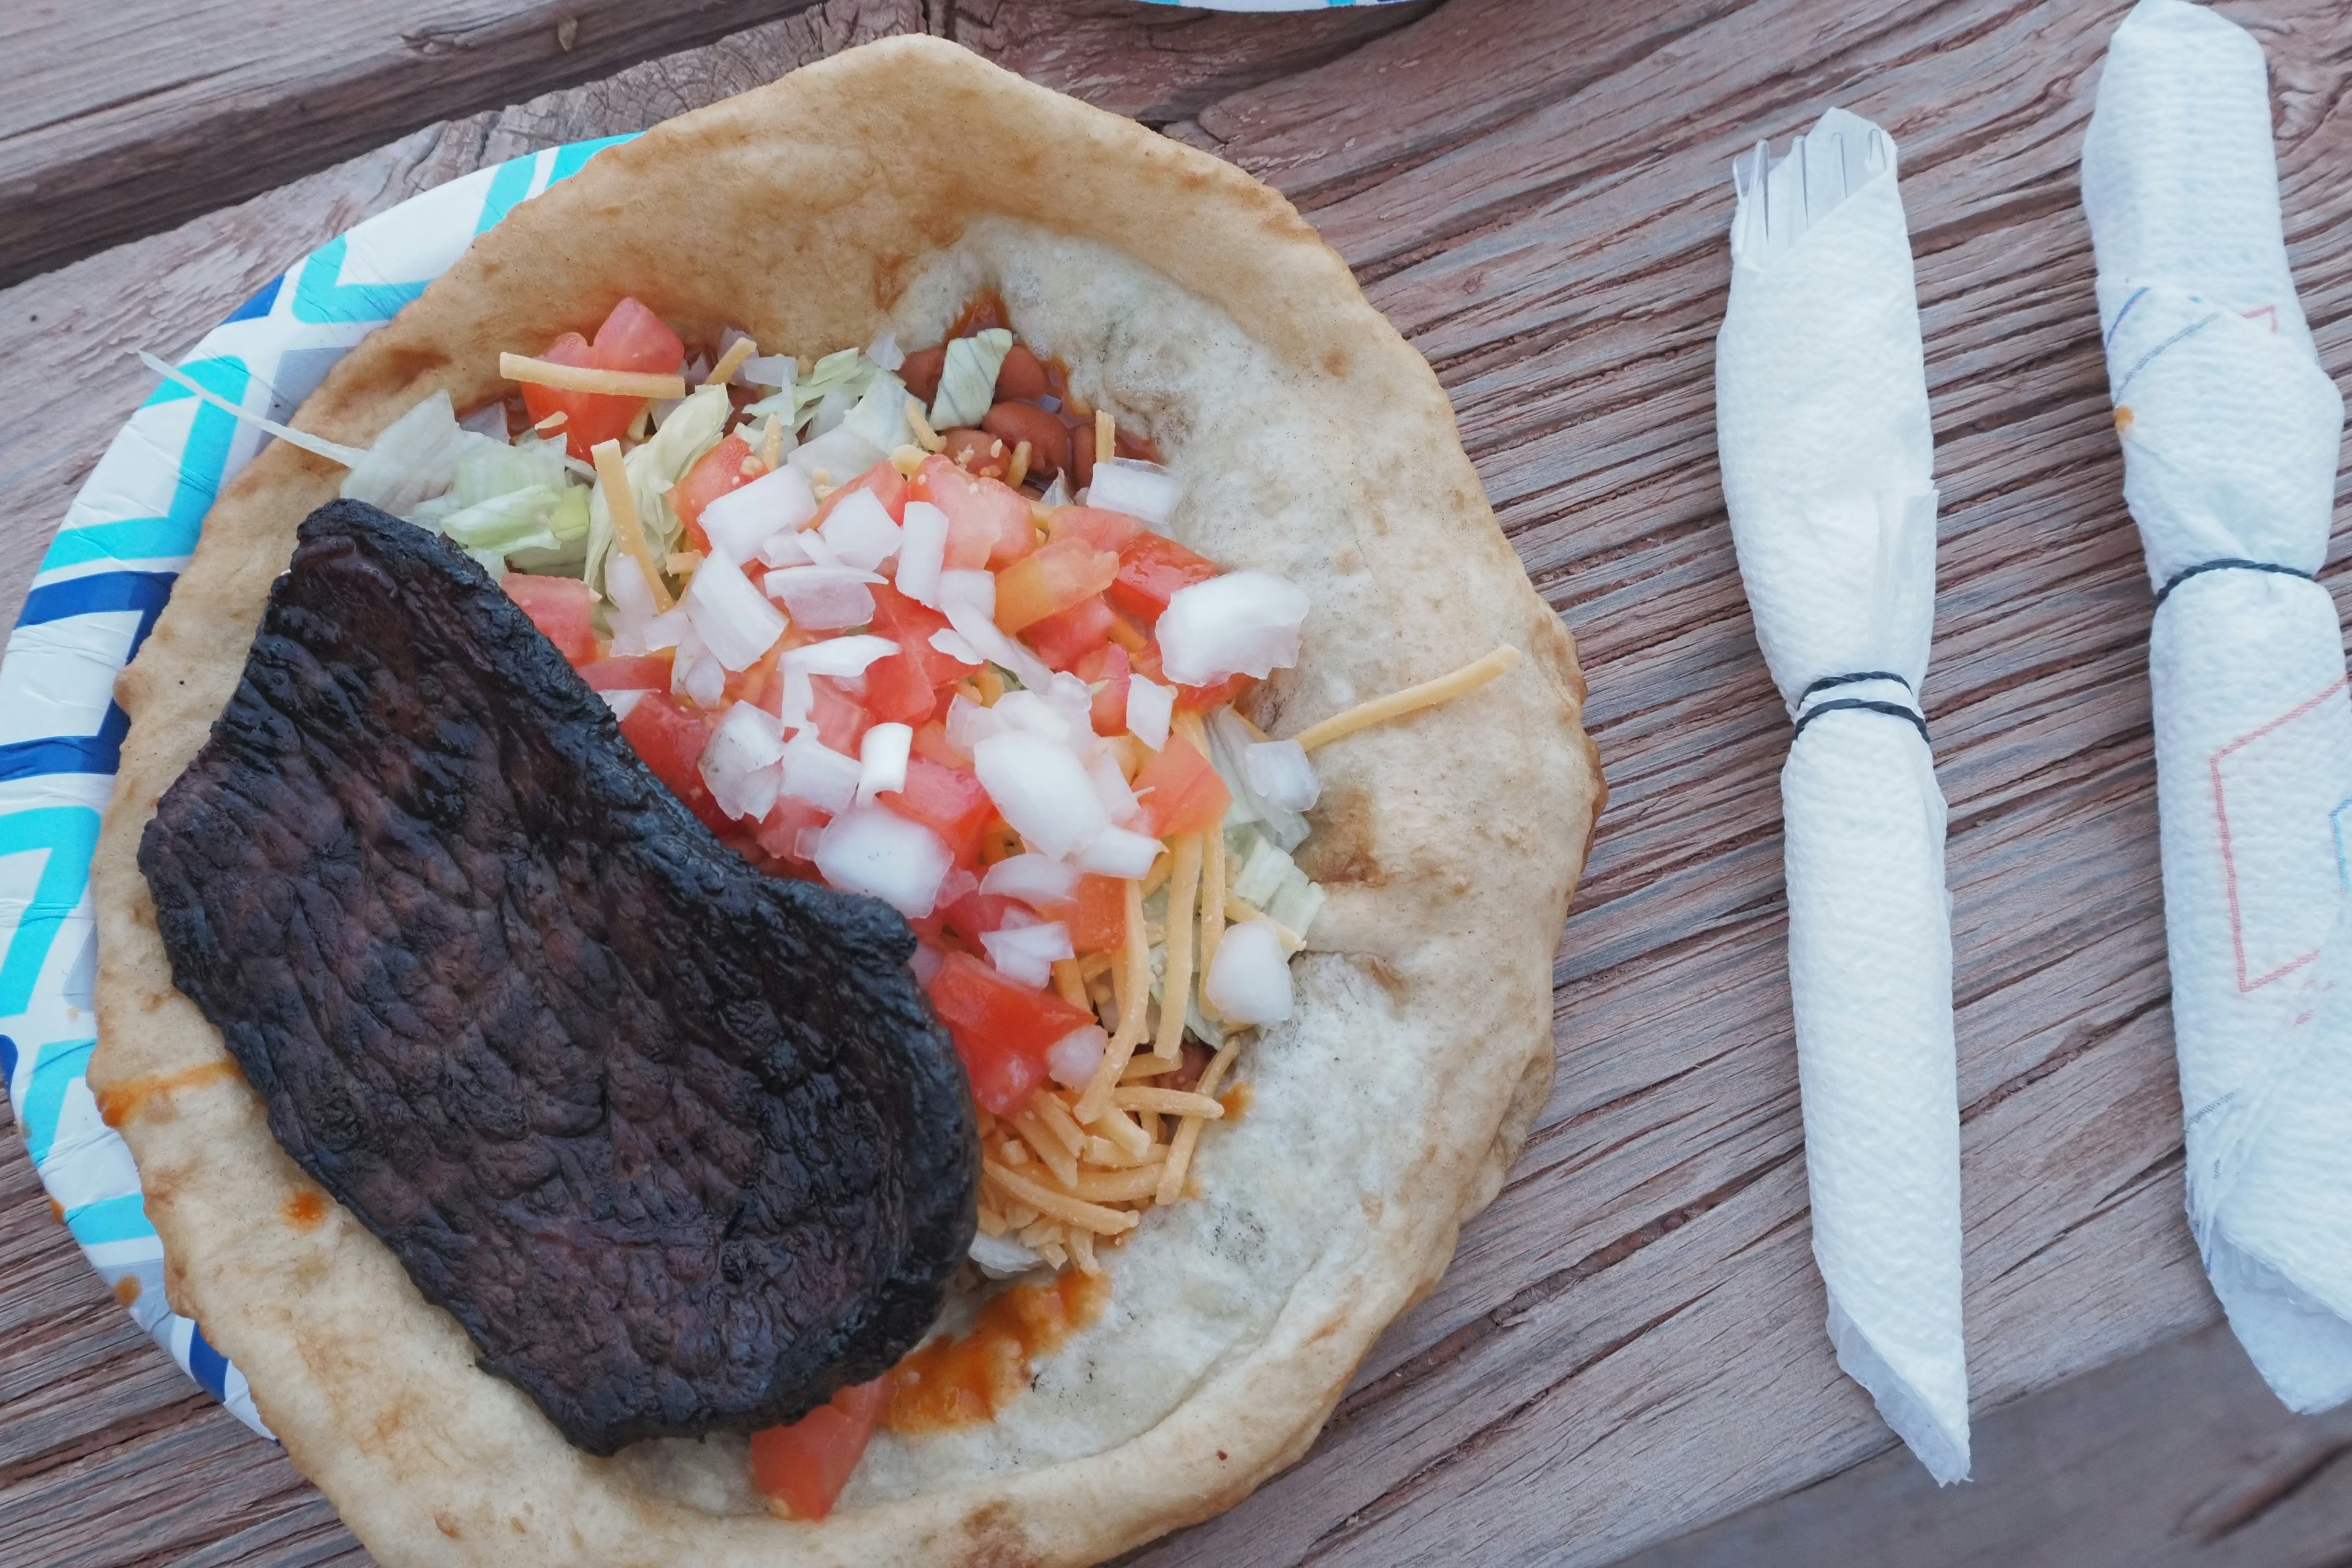
M 2340 1568 L 2352 1413 L 2288 1415 L 2223 1326 L 1978 1422 L 1973 1486 L 1889 1453 L 1623 1568 Z

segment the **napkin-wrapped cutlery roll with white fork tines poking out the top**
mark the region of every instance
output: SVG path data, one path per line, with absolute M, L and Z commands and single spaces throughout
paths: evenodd
M 1938 1483 L 1969 1474 L 1943 792 L 1919 682 L 1936 487 L 1886 134 L 1839 108 L 1736 169 L 1715 343 L 1724 501 L 1797 733 L 1780 771 L 1813 1260 L 1837 1363 Z

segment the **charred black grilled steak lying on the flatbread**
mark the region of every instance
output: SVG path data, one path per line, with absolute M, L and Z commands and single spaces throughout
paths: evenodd
M 581 1448 L 931 1326 L 978 1143 L 906 922 L 724 849 L 433 534 L 303 522 L 139 867 L 278 1143 Z

